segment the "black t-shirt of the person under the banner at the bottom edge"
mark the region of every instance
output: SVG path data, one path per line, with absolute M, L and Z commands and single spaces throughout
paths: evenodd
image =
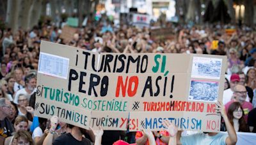
M 91 145 L 89 139 L 83 138 L 82 141 L 77 141 L 70 133 L 60 135 L 57 139 L 52 142 L 53 145 L 70 145 L 70 144 L 81 144 L 81 145 Z

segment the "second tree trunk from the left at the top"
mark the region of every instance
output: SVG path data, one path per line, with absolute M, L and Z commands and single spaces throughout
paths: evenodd
M 22 0 L 21 10 L 20 10 L 20 27 L 27 31 L 29 29 L 29 18 L 31 18 L 31 13 L 29 10 L 32 6 L 33 0 Z

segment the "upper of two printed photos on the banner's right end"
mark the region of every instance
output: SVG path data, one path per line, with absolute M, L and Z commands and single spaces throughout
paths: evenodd
M 222 59 L 193 57 L 192 78 L 220 79 Z

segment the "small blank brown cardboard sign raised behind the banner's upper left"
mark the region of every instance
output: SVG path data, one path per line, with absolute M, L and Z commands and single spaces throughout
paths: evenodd
M 74 34 L 76 33 L 77 29 L 69 27 L 68 25 L 65 25 L 61 31 L 60 38 L 64 39 L 67 43 L 72 41 L 74 38 Z

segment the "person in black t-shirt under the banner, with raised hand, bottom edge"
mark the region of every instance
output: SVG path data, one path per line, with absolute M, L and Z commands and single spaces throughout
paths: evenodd
M 69 125 L 71 128 L 70 133 L 60 135 L 57 139 L 55 139 L 52 144 L 53 145 L 70 145 L 70 144 L 76 144 L 76 145 L 90 145 L 93 144 L 89 139 L 86 139 L 83 137 L 84 134 L 87 134 L 87 130 L 84 128 L 76 127 L 73 125 Z M 93 135 L 95 136 L 95 145 L 101 144 L 101 137 L 103 134 L 102 128 L 100 130 L 92 130 Z M 54 134 L 54 132 L 51 132 L 51 134 Z

